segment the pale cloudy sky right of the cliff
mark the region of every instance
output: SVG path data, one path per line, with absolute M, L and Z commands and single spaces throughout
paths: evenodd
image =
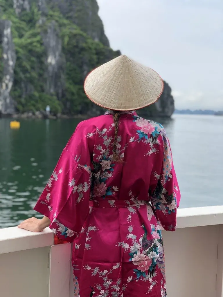
M 97 0 L 114 50 L 156 70 L 177 109 L 223 110 L 222 0 Z

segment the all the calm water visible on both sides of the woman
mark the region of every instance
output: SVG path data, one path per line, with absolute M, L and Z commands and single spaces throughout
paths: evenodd
M 182 194 L 180 207 L 222 205 L 223 117 L 158 119 L 169 137 Z M 0 119 L 0 228 L 36 215 L 32 210 L 78 120 Z

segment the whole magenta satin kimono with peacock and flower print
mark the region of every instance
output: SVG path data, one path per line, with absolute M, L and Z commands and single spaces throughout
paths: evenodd
M 73 242 L 75 297 L 164 297 L 161 226 L 176 228 L 180 192 L 164 128 L 123 112 L 78 124 L 35 210 Z

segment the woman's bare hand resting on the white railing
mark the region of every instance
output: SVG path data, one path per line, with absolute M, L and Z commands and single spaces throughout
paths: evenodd
M 43 217 L 43 219 L 37 219 L 37 218 L 30 218 L 27 219 L 18 225 L 18 228 L 26 229 L 28 231 L 32 232 L 41 232 L 43 229 L 49 227 L 50 225 L 50 219 L 48 217 Z

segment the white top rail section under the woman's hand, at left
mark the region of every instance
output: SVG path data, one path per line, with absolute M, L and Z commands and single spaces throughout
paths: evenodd
M 48 247 L 52 244 L 54 244 L 54 234 L 50 228 L 46 228 L 40 233 L 17 227 L 0 229 L 0 254 Z

